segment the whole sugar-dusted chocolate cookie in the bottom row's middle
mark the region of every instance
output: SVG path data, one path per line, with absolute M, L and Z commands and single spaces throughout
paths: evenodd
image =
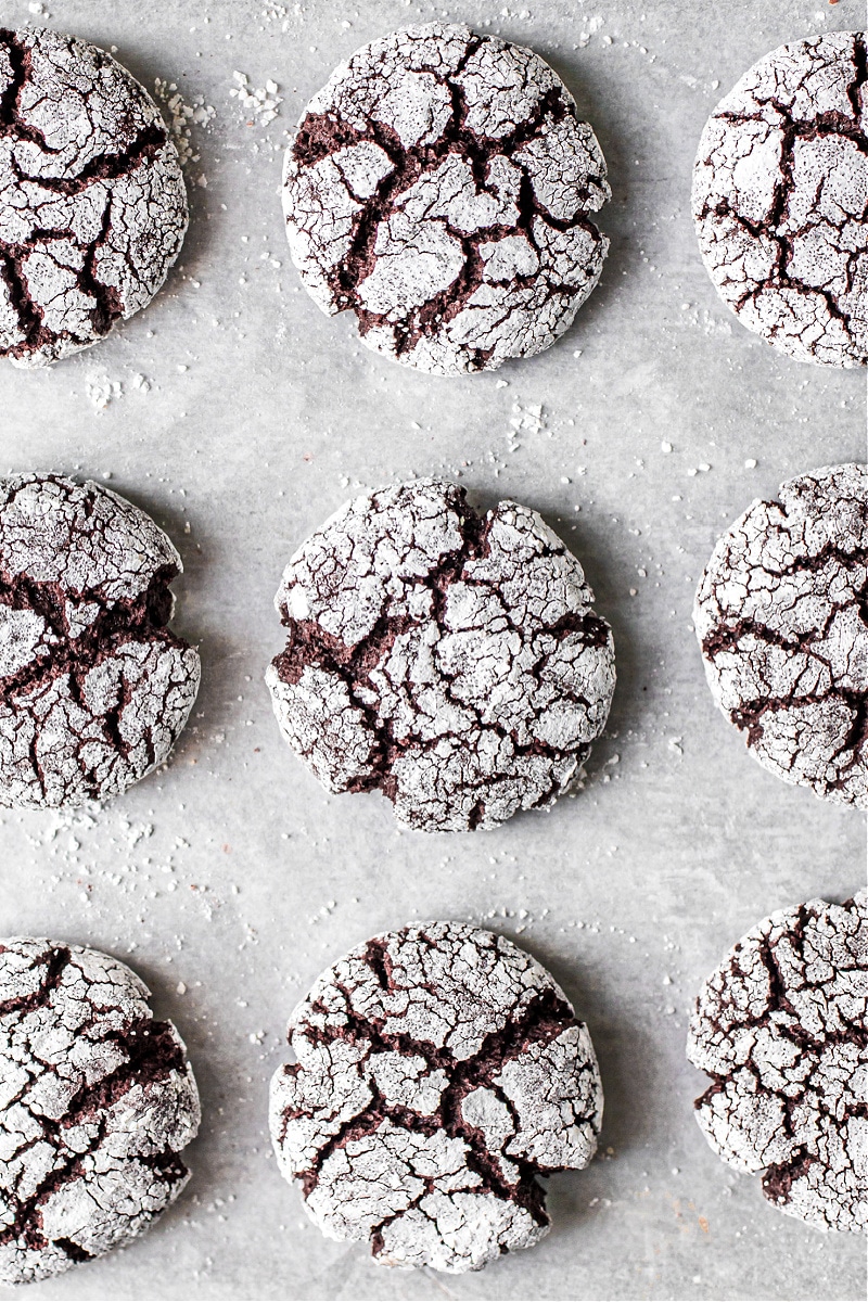
M 288 1180 L 324 1234 L 463 1272 L 549 1229 L 536 1177 L 587 1167 L 603 1087 L 587 1027 L 530 954 L 433 922 L 377 936 L 293 1013 L 271 1088 Z

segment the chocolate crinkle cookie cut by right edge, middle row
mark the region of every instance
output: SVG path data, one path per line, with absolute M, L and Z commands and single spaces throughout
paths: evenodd
M 694 625 L 751 754 L 868 809 L 868 467 L 816 470 L 755 501 L 712 555 Z

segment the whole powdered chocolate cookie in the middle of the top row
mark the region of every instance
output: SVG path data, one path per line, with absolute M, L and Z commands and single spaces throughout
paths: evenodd
M 539 55 L 457 23 L 358 49 L 284 165 L 293 262 L 368 348 L 440 375 L 549 348 L 600 279 L 596 137 Z

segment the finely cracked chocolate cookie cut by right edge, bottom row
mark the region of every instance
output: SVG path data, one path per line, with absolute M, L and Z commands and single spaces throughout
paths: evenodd
M 712 1148 L 820 1229 L 868 1230 L 868 892 L 772 914 L 705 982 L 687 1056 Z

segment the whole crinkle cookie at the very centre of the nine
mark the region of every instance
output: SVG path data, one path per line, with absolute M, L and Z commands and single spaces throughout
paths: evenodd
M 426 832 L 495 827 L 550 805 L 605 725 L 614 650 L 592 602 L 527 506 L 480 518 L 436 479 L 357 497 L 284 573 L 277 720 L 331 792 L 379 788 Z

